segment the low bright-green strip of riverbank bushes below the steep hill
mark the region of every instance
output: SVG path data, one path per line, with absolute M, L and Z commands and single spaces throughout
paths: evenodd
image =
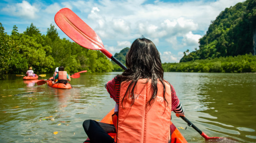
M 255 73 L 256 56 L 219 57 L 194 62 L 163 63 L 165 72 Z

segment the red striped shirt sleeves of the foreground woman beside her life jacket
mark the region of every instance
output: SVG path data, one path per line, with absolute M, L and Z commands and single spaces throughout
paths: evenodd
M 119 96 L 120 96 L 120 81 L 116 81 L 115 78 L 113 78 L 111 81 L 108 81 L 105 84 L 105 87 L 110 94 L 110 97 L 115 100 L 116 104 L 119 105 Z M 171 96 L 172 96 L 172 111 L 179 115 L 184 115 L 185 111 L 180 103 L 180 100 L 176 96 L 176 92 L 171 85 Z

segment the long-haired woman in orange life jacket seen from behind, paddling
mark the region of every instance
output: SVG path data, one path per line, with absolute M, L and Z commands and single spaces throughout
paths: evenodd
M 114 125 L 85 120 L 90 141 L 84 143 L 170 143 L 171 111 L 184 116 L 172 85 L 163 79 L 160 54 L 155 44 L 138 38 L 126 56 L 127 70 L 106 83 L 115 100 Z M 116 128 L 116 130 L 115 130 Z M 115 140 L 108 135 L 117 132 Z

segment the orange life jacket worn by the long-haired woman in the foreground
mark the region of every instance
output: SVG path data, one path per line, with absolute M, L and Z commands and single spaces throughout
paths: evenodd
M 165 82 L 165 98 L 163 86 L 157 83 L 157 96 L 153 104 L 149 105 L 152 95 L 151 80 L 141 79 L 134 90 L 135 102 L 131 106 L 131 94 L 125 95 L 130 82 L 122 82 L 120 88 L 119 113 L 116 143 L 168 143 L 171 121 L 171 88 Z M 122 99 L 123 106 L 122 106 Z M 114 123 L 115 124 L 115 123 Z

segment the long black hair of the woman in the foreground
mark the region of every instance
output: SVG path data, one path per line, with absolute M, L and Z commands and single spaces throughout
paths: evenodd
M 147 104 L 151 105 L 156 99 L 158 80 L 163 85 L 163 98 L 168 104 L 168 101 L 165 98 L 165 84 L 163 80 L 163 68 L 160 54 L 152 41 L 144 37 L 136 39 L 126 55 L 126 66 L 128 69 L 117 76 L 117 80 L 121 82 L 131 81 L 124 95 L 126 96 L 128 91 L 131 91 L 131 106 L 135 101 L 134 89 L 136 83 L 140 79 L 147 79 L 146 83 L 151 79 L 151 89 L 153 90 L 153 93 Z

